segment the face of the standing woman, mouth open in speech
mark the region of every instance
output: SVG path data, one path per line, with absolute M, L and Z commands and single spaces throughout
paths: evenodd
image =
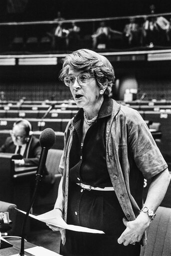
M 96 79 L 92 77 L 90 73 L 85 71 L 77 71 L 69 66 L 68 75 L 77 77 L 79 74 L 87 74 L 89 76 L 89 81 L 83 85 L 80 85 L 77 79 L 75 79 L 73 86 L 70 86 L 70 91 L 76 105 L 79 108 L 83 108 L 87 112 L 92 111 L 92 108 L 98 104 L 100 89 L 97 85 Z

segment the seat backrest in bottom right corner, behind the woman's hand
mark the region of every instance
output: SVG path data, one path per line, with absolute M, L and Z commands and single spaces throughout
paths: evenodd
M 159 206 L 156 217 L 147 228 L 147 244 L 140 256 L 171 255 L 171 208 Z

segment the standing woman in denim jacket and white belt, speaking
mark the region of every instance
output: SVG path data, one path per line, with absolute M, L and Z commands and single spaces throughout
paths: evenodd
M 167 165 L 138 112 L 109 98 L 114 72 L 105 57 L 75 51 L 60 79 L 80 109 L 65 130 L 54 209 L 68 224 L 105 233 L 60 229 L 60 253 L 139 255 L 169 183 Z M 152 182 L 142 208 L 143 176 Z

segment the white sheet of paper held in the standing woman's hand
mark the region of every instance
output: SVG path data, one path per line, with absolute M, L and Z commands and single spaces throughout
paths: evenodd
M 18 211 L 26 214 L 25 211 L 19 210 Z M 73 230 L 73 231 L 79 231 L 79 232 L 88 232 L 88 233 L 100 233 L 100 234 L 104 234 L 103 231 L 101 230 L 97 230 L 97 229 L 92 229 L 92 228 L 88 228 L 88 227 L 83 227 L 83 226 L 76 226 L 76 225 L 70 225 L 67 224 L 62 217 L 60 216 L 60 214 L 58 213 L 58 211 L 56 211 L 55 209 L 51 210 L 51 211 L 47 211 L 43 214 L 40 215 L 33 215 L 29 213 L 29 216 L 31 218 L 40 220 L 42 222 L 57 226 L 57 227 L 61 227 L 64 229 L 69 229 L 69 230 Z

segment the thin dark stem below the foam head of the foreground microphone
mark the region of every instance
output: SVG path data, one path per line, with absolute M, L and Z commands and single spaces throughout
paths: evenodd
M 25 227 L 26 227 L 26 222 L 27 222 L 27 219 L 28 219 L 28 215 L 29 215 L 29 212 L 31 210 L 31 207 L 34 203 L 34 200 L 35 200 L 35 196 L 36 196 L 36 192 L 37 192 L 37 187 L 38 187 L 38 183 L 39 181 L 41 181 L 41 177 L 42 177 L 42 170 L 43 170 L 43 167 L 45 165 L 45 161 L 46 161 L 46 157 L 47 157 L 47 153 L 48 153 L 48 149 L 46 147 L 42 147 L 42 150 L 41 150 L 41 155 L 40 155 L 40 159 L 43 159 L 43 161 L 40 161 L 40 164 L 38 165 L 38 168 L 37 168 L 37 172 L 35 174 L 35 187 L 34 187 L 34 191 L 33 191 L 33 195 L 32 195 L 32 199 L 31 199 L 31 202 L 30 202 L 30 205 L 26 211 L 26 214 L 25 214 L 25 218 L 24 218 L 24 221 L 23 221 L 23 225 L 22 225 L 22 233 L 21 233 L 21 247 L 20 247 L 20 253 L 18 255 L 20 256 L 24 256 L 24 237 L 25 237 Z

